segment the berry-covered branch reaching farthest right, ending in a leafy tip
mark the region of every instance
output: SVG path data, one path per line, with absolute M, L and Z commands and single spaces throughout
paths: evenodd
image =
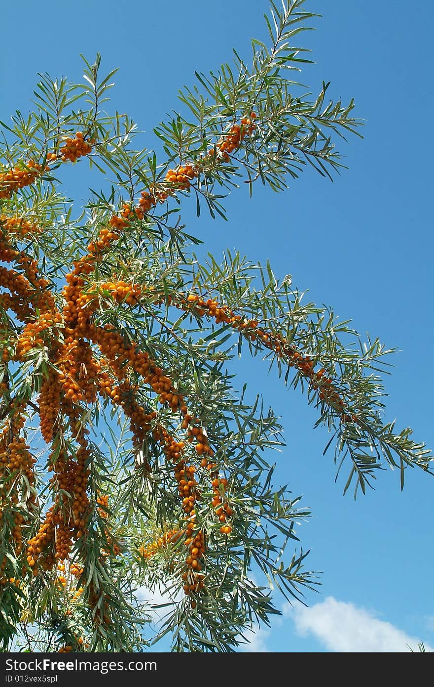
M 173 302 L 176 304 L 175 299 Z M 359 486 L 363 492 L 366 485 L 372 486 L 369 480 L 370 477 L 374 476 L 373 470 L 381 464 L 381 458 L 391 466 L 400 468 L 402 484 L 405 466 L 420 466 L 425 471 L 428 469 L 431 453 L 425 449 L 424 445 L 409 440 L 406 431 L 392 436 L 393 425 L 383 425 L 381 422 L 378 411 L 376 411 L 376 396 L 383 388 L 378 376 L 370 375 L 364 378 L 355 376 L 352 380 L 352 387 L 340 385 L 339 382 L 333 380 L 332 376 L 328 376 L 330 373 L 327 372 L 324 365 L 321 365 L 320 370 L 315 370 L 317 364 L 321 364 L 320 361 L 317 363 L 316 356 L 300 353 L 292 343 L 287 343 L 285 335 L 282 333 L 258 328 L 256 319 L 247 319 L 241 315 L 235 315 L 226 306 L 219 306 L 215 300 L 204 301 L 195 294 L 189 295 L 186 302 L 181 297 L 178 301 L 178 307 L 188 308 L 189 303 L 193 304 L 193 307 L 190 307 L 197 317 L 201 318 L 204 315 L 213 317 L 217 324 L 228 324 L 239 330 L 250 341 L 259 345 L 262 343 L 265 348 L 272 350 L 278 358 L 286 359 L 289 368 L 294 368 L 298 376 L 309 381 L 310 389 L 317 396 L 318 405 L 322 408 L 328 407 L 332 412 L 330 416 L 323 410 L 320 421 L 324 417 L 330 418 L 332 427 L 335 427 L 337 434 L 335 462 L 339 460 L 342 464 L 347 454 L 352 461 L 350 477 L 344 491 L 348 489 L 352 477 L 356 477 L 355 493 L 357 493 Z M 383 354 L 385 354 L 383 347 L 376 341 L 370 347 L 366 360 L 362 357 L 359 365 L 362 368 L 365 366 L 369 368 L 370 356 L 378 359 Z M 352 363 L 353 368 L 356 367 L 354 361 L 350 360 L 350 363 Z M 293 382 L 294 386 L 296 382 L 297 378 Z M 354 403 L 354 398 L 357 399 L 356 403 Z M 337 427 L 333 415 L 340 420 Z M 370 447 L 374 445 L 375 458 L 361 449 L 366 440 Z M 339 456 L 341 451 L 343 455 Z M 391 451 L 398 455 L 398 461 L 391 455 Z

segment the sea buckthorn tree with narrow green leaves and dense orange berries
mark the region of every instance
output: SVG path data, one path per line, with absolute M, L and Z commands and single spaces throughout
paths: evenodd
M 175 651 L 232 651 L 276 613 L 255 576 L 289 598 L 315 584 L 302 550 L 286 554 L 308 513 L 272 484 L 278 418 L 228 371 L 245 349 L 315 406 L 350 466 L 345 491 L 365 491 L 384 461 L 402 484 L 407 466 L 429 468 L 410 430 L 383 422 L 381 343 L 268 264 L 201 262 L 180 218 L 184 196 L 224 215 L 240 180 L 280 191 L 308 165 L 341 167 L 335 142 L 359 122 L 326 84 L 311 100 L 292 78 L 307 61 L 302 5 L 272 5 L 270 47 L 254 41 L 250 67 L 234 53 L 197 74 L 184 115 L 155 129 L 162 162 L 134 149 L 128 116 L 101 109 L 113 74 L 99 78 L 99 56 L 83 84 L 41 75 L 35 111 L 2 124 L 3 650 L 140 650 L 144 587 L 174 601 L 160 635 Z M 101 190 L 77 210 L 62 174 L 87 161 Z

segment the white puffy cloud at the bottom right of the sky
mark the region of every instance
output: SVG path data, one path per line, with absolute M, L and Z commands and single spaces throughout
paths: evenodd
M 340 653 L 405 653 L 419 651 L 420 638 L 411 637 L 390 622 L 378 620 L 372 611 L 328 596 L 310 608 L 302 604 L 285 606 L 296 632 L 309 634 L 328 651 Z M 426 651 L 433 651 L 425 644 Z

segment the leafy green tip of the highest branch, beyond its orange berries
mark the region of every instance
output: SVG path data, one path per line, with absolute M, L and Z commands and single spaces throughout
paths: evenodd
M 298 177 L 306 164 L 313 165 L 317 172 L 328 177 L 329 167 L 332 171 L 339 170 L 342 166 L 339 153 L 327 129 L 338 136 L 346 131 L 358 133 L 361 122 L 350 116 L 352 101 L 348 106 L 340 101 L 324 105 L 325 84 L 312 104 L 306 100 L 301 84 L 287 80 L 287 69 L 300 71 L 302 63 L 309 63 L 300 56 L 300 48 L 293 47 L 292 43 L 293 36 L 306 29 L 300 20 L 314 16 L 300 10 L 302 1 L 285 1 L 282 8 L 274 7 L 274 18 L 269 23 L 272 49 L 252 41 L 254 57 L 250 70 L 235 55 L 234 70 L 225 63 L 217 74 L 205 76 L 196 72 L 202 92 L 185 89 L 180 100 L 190 110 L 189 120 L 193 115 L 197 124 L 187 124 L 178 117 L 172 126 L 160 126 L 160 137 L 165 146 L 173 150 L 174 156 L 180 147 L 180 137 L 176 135 L 182 128 L 180 121 L 186 128 L 187 141 L 195 127 L 203 131 L 207 124 L 218 122 L 222 113 L 243 109 L 254 110 L 261 122 L 254 144 L 246 148 L 245 159 L 239 160 L 248 172 L 250 190 L 256 179 L 271 185 L 274 190 L 283 190 L 287 188 L 288 175 L 293 179 Z

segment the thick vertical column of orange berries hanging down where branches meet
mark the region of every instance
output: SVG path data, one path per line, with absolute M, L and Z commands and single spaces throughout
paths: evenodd
M 69 425 L 75 433 L 79 448 L 74 459 L 60 453 L 51 466 L 56 473 L 56 477 L 51 482 L 57 484 L 58 494 L 36 537 L 29 541 L 27 561 L 35 571 L 37 570 L 36 561 L 40 554 L 44 553 L 44 559 L 49 557 L 45 554 L 45 550 L 50 541 L 56 540 L 56 559 L 65 560 L 69 557 L 73 539 L 80 539 L 86 527 L 86 513 L 89 506 L 87 481 L 90 475 L 86 465 L 89 451 L 85 436 L 87 430 L 77 431 L 80 413 L 75 408 L 75 404 L 82 400 L 88 403 L 95 401 L 97 390 L 99 390 L 97 381 L 100 373 L 99 363 L 94 359 L 89 343 L 84 341 L 83 336 L 86 332 L 81 330 L 82 327 L 86 328 L 89 316 L 85 315 L 82 317 L 82 322 L 79 322 L 84 302 L 78 301 L 80 301 L 84 281 L 78 278 L 77 273 L 82 271 L 83 266 L 88 267 L 88 265 L 88 261 L 77 261 L 75 274 L 69 275 L 67 286 L 64 288 L 67 304 L 64 307 L 63 317 L 60 313 L 56 313 L 55 319 L 59 322 L 64 319 L 67 325 L 63 326 L 65 338 L 63 345 L 53 350 L 53 362 L 60 372 L 51 370 L 40 392 L 41 431 L 45 440 L 47 442 L 52 440 L 53 427 L 56 427 L 56 420 L 60 417 L 60 411 L 63 411 L 69 416 Z M 45 317 L 45 319 L 48 318 Z M 54 454 L 56 450 L 53 451 L 52 455 Z M 71 494 L 71 500 L 67 494 Z

